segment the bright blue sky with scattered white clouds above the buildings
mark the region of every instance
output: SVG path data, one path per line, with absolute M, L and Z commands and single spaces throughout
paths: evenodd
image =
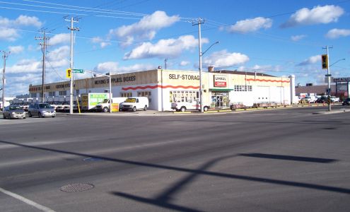
M 349 1 L 0 1 L 0 49 L 6 61 L 6 97 L 41 84 L 40 29 L 50 37 L 47 83 L 65 81 L 69 67 L 69 22 L 74 26 L 74 67 L 100 73 L 168 69 L 198 70 L 202 24 L 203 68 L 296 75 L 296 83 L 324 83 L 321 54 L 329 45 L 334 77 L 350 76 Z M 1 63 L 2 65 L 2 63 Z M 89 73 L 76 74 L 86 78 Z

